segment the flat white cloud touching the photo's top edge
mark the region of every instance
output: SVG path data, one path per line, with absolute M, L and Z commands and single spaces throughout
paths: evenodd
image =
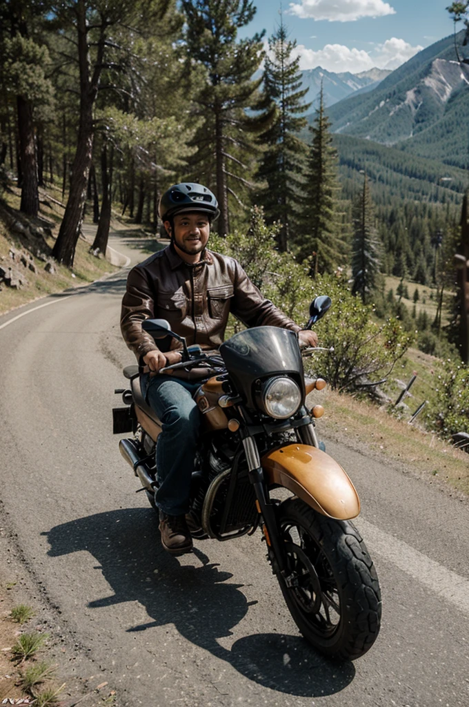
M 288 12 L 303 19 L 329 22 L 353 22 L 360 17 L 396 14 L 396 10 L 383 0 L 301 0 L 299 4 L 290 3 Z

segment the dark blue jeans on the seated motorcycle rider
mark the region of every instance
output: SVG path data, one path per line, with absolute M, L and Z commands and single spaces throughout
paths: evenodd
M 200 383 L 170 375 L 141 376 L 143 396 L 162 421 L 156 444 L 156 505 L 168 515 L 189 511 L 189 491 L 201 413 L 193 399 Z

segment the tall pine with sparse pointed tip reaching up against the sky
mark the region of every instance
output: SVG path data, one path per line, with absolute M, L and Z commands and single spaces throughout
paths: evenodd
M 299 57 L 292 59 L 296 41 L 288 40 L 287 28 L 280 26 L 268 40 L 270 52 L 266 56 L 263 83 L 268 99 L 278 107 L 275 122 L 263 134 L 262 142 L 267 146 L 258 177 L 266 182 L 256 201 L 264 207 L 266 221 L 280 221 L 279 247 L 287 250 L 290 232 L 295 237 L 300 206 L 304 198 L 304 173 L 307 146 L 298 133 L 307 126 L 301 114 L 311 103 L 302 103 L 308 89 L 302 88 Z

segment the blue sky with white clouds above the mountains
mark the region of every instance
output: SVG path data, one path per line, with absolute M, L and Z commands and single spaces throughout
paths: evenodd
M 275 30 L 280 2 L 254 0 L 256 17 L 240 36 Z M 283 0 L 283 18 L 298 42 L 302 69 L 357 73 L 396 69 L 419 49 L 453 32 L 449 0 Z

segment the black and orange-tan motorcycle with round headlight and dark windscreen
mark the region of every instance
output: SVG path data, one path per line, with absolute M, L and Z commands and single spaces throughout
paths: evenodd
M 331 307 L 316 297 L 307 328 Z M 238 332 L 215 354 L 186 346 L 165 320 L 146 320 L 155 341 L 182 344 L 182 362 L 160 373 L 200 378 L 194 399 L 201 437 L 186 516 L 194 539 L 221 542 L 253 535 L 260 527 L 267 559 L 290 614 L 304 638 L 323 655 L 360 658 L 379 633 L 381 592 L 374 564 L 351 519 L 360 513 L 355 487 L 323 451 L 306 397 L 326 382 L 305 378 L 295 332 L 254 327 Z M 119 450 L 155 505 L 155 444 L 161 422 L 143 398 L 138 366 L 124 368 L 130 387 L 124 408 L 113 410 Z M 280 492 L 278 491 L 280 489 Z M 280 498 L 279 498 L 280 496 Z

